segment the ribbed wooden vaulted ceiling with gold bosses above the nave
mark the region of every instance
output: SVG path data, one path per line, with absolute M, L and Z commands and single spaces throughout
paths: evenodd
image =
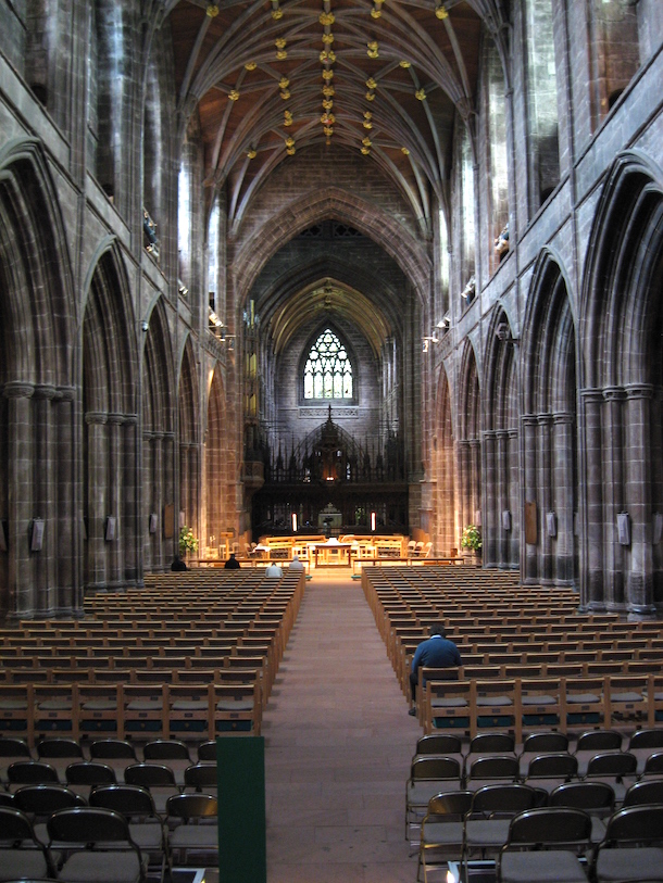
M 377 163 L 429 215 L 456 112 L 472 121 L 483 26 L 502 0 L 179 0 L 166 4 L 179 111 L 198 111 L 208 182 L 230 223 L 314 143 Z M 472 128 L 472 125 L 471 125 Z

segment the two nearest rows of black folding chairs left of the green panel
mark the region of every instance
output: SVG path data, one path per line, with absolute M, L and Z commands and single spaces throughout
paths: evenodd
M 209 794 L 172 795 L 163 813 L 139 786 L 98 787 L 89 805 L 66 789 L 59 798 L 16 797 L 16 807 L 0 805 L 3 881 L 146 883 L 152 868 L 163 883 L 175 863 L 218 855 L 217 800 Z M 59 804 L 65 806 L 52 808 Z

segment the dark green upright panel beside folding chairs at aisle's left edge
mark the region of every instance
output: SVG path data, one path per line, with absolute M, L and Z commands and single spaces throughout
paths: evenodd
M 216 740 L 218 872 L 223 883 L 267 883 L 265 741 Z

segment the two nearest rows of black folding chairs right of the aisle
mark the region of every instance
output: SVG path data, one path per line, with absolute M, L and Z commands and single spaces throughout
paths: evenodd
M 543 804 L 543 805 L 542 805 Z M 568 783 L 550 795 L 524 784 L 434 796 L 422 821 L 417 880 L 460 859 L 496 856 L 499 883 L 661 880 L 663 803 L 614 810 L 610 789 Z

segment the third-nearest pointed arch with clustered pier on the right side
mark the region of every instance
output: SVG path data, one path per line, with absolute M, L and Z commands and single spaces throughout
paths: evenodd
M 485 356 L 483 557 L 487 567 L 502 569 L 516 569 L 520 560 L 520 389 L 514 338 L 506 313 L 497 307 Z

